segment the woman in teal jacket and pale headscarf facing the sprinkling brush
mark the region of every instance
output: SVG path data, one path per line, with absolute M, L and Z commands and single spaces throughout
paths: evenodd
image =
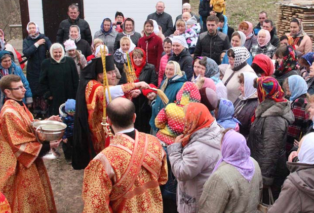
M 173 103 L 176 100 L 177 93 L 187 81 L 186 75 L 180 69 L 180 65 L 175 61 L 168 61 L 165 69 L 165 80 L 162 81 L 160 89 L 166 94 L 169 99 L 169 103 Z M 152 114 L 149 124 L 154 132 L 158 131 L 155 126 L 155 118 L 158 113 L 165 107 L 160 97 L 156 98 L 156 102 L 152 107 Z

